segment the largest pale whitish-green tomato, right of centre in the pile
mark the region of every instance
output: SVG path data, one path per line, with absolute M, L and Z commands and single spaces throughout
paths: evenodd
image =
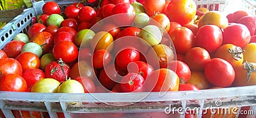
M 157 45 L 161 42 L 162 33 L 159 27 L 154 25 L 148 25 L 141 29 L 140 38 L 147 41 L 147 43 L 153 47 L 154 45 Z

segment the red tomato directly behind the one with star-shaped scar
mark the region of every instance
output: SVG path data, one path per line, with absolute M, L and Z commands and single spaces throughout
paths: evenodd
M 144 79 L 148 78 L 148 76 L 153 73 L 154 68 L 143 61 L 134 61 L 128 64 L 128 71 L 129 73 L 138 73 Z

